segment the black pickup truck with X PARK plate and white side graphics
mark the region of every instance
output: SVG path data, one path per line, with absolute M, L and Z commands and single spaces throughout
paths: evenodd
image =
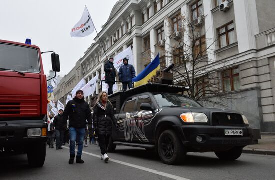
M 239 112 L 202 107 L 182 95 L 188 87 L 147 83 L 109 96 L 120 125 L 113 126 L 108 152 L 116 145 L 156 150 L 166 164 L 182 163 L 187 152 L 214 151 L 235 160 L 253 143 L 252 129 Z

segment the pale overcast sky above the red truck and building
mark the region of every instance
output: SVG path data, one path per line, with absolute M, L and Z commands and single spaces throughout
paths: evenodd
M 32 44 L 41 51 L 59 54 L 63 76 L 84 56 L 96 32 L 86 37 L 71 37 L 70 30 L 80 20 L 85 5 L 97 32 L 107 22 L 119 0 L 0 0 L 0 39 Z M 42 54 L 44 73 L 52 70 L 50 53 Z

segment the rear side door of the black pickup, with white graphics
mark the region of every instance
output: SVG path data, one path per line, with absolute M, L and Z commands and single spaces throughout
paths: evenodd
M 118 138 L 121 141 L 134 142 L 135 137 L 132 134 L 132 131 L 133 131 L 132 118 L 133 118 L 133 115 L 136 113 L 135 111 L 136 99 L 137 99 L 136 96 L 126 99 L 117 117 L 117 123 L 120 126 L 119 132 L 118 132 Z

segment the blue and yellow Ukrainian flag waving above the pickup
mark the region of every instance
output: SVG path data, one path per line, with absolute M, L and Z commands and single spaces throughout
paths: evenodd
M 154 58 L 154 60 L 145 67 L 145 69 L 138 74 L 138 76 L 132 78 L 134 87 L 140 86 L 142 84 L 148 83 L 148 79 L 151 79 L 153 75 L 156 75 L 156 71 L 160 69 L 159 53 Z

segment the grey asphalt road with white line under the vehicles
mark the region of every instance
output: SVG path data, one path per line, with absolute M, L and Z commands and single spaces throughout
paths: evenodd
M 67 146 L 68 147 L 68 146 Z M 188 153 L 180 165 L 166 165 L 155 152 L 117 146 L 100 160 L 100 149 L 83 149 L 84 164 L 68 164 L 69 149 L 47 148 L 42 168 L 30 168 L 26 155 L 0 157 L 0 180 L 274 180 L 275 156 L 242 154 L 236 161 L 221 161 L 214 153 Z

